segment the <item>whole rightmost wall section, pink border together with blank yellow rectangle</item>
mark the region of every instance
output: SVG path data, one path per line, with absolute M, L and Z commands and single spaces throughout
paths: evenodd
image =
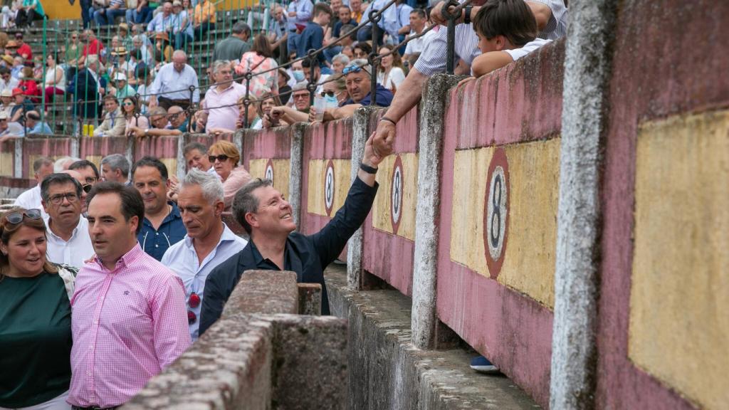
M 729 403 L 728 21 L 721 1 L 618 9 L 601 198 L 599 408 Z

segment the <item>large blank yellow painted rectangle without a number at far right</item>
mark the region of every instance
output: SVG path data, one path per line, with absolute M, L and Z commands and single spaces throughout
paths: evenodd
M 729 112 L 640 126 L 628 356 L 702 409 L 729 403 Z

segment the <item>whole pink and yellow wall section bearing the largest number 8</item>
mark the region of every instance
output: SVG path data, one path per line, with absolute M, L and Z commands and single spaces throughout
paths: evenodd
M 542 406 L 563 61 L 555 42 L 452 90 L 444 124 L 437 314 Z

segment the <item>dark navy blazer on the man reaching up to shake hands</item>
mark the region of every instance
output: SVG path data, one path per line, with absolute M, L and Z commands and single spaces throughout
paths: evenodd
M 321 231 L 310 236 L 292 232 L 286 239 L 284 270 L 295 271 L 297 282 L 321 285 L 321 314 L 330 314 L 324 268 L 339 256 L 349 238 L 362 226 L 372 209 L 377 189 L 376 184 L 370 187 L 361 179 L 355 179 L 349 188 L 344 206 Z M 249 241 L 241 252 L 214 268 L 205 282 L 203 308 L 200 312 L 200 335 L 219 319 L 223 306 L 233 293 L 235 285 L 238 285 L 243 271 L 249 269 L 280 270 L 276 264 L 262 257 L 253 241 Z

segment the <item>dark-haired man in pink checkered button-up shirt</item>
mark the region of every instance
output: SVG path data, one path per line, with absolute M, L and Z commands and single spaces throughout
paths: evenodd
M 144 253 L 139 192 L 101 182 L 87 198 L 96 258 L 81 268 L 71 298 L 74 409 L 122 405 L 190 346 L 182 280 Z

